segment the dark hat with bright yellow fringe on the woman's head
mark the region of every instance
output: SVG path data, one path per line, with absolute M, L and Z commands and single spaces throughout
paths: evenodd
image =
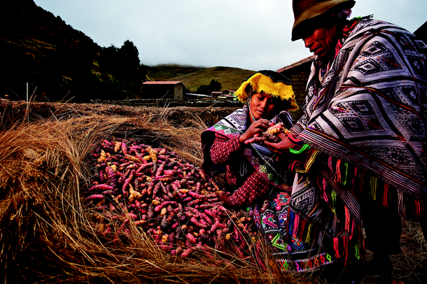
M 251 77 L 246 78 L 235 95 L 242 103 L 246 103 L 248 99 L 248 85 L 251 85 L 253 92 L 265 93 L 272 97 L 277 97 L 282 101 L 288 101 L 290 107 L 288 111 L 295 111 L 298 109 L 297 102 L 295 101 L 295 94 L 293 93 L 292 83 L 288 78 L 281 73 L 270 70 L 262 70 L 253 74 Z

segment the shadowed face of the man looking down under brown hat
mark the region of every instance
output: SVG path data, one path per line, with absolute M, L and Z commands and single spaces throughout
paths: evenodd
M 336 26 L 319 27 L 303 38 L 305 47 L 318 56 L 321 61 L 328 61 L 334 56 L 337 38 L 335 36 Z

